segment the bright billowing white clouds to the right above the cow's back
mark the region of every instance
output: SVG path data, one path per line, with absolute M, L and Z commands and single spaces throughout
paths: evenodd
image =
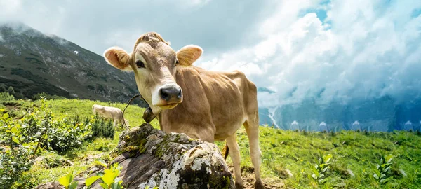
M 319 103 L 421 97 L 421 16 L 411 17 L 421 1 L 411 6 L 402 5 L 410 1 L 317 3 L 281 3 L 262 22 L 262 40 L 197 64 L 213 70 L 241 68 L 241 62 L 253 65 L 245 69 L 248 78 L 276 91 L 259 93 L 260 106 L 307 97 L 319 97 Z M 311 12 L 299 16 L 309 8 L 326 9 L 326 20 Z

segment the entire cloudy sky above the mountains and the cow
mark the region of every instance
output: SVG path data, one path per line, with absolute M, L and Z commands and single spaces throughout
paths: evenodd
M 156 31 L 195 64 L 238 69 L 260 106 L 421 98 L 421 1 L 19 1 L 0 0 L 0 22 L 20 21 L 100 55 Z

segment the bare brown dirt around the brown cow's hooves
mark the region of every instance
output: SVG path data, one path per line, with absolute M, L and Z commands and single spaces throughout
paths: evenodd
M 229 172 L 234 175 L 234 166 L 232 164 L 228 165 Z M 253 167 L 241 167 L 241 176 L 243 177 L 244 188 L 253 189 L 255 183 L 255 174 Z M 265 184 L 265 188 L 286 188 L 283 184 L 282 179 L 274 178 L 262 178 L 262 182 Z

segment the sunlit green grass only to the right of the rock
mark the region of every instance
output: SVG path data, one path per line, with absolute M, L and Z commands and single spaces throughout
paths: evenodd
M 241 166 L 251 167 L 248 140 L 243 128 L 238 133 Z M 219 144 L 222 147 L 222 143 Z M 260 127 L 262 176 L 282 179 L 291 188 L 315 186 L 307 178 L 311 174 L 308 163 L 316 165 L 319 151 L 333 155 L 332 173 L 321 188 L 377 188 L 370 179 L 381 152 L 394 155 L 394 179 L 381 188 L 421 188 L 421 137 L 416 132 L 356 132 L 336 134 L 323 132 L 295 132 Z M 230 161 L 229 161 L 230 162 Z M 400 169 L 406 173 L 403 176 Z M 350 175 L 350 172 L 354 176 Z

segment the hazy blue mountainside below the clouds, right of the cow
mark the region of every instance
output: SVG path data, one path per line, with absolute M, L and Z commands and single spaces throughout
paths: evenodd
M 272 111 L 271 111 L 272 110 Z M 307 99 L 299 104 L 260 108 L 260 124 L 283 130 L 421 130 L 421 99 L 398 101 L 384 96 L 319 104 Z M 272 119 L 268 119 L 272 118 Z

